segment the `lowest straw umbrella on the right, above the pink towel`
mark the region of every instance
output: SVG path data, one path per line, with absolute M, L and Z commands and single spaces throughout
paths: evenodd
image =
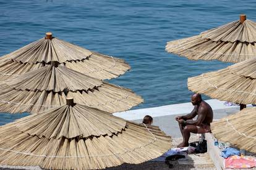
M 256 109 L 245 108 L 211 124 L 215 137 L 235 147 L 256 153 Z

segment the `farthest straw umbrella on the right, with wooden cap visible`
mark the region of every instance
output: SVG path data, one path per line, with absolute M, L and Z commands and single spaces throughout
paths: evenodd
M 256 54 L 256 23 L 240 20 L 200 33 L 190 38 L 170 41 L 166 51 L 190 60 L 220 60 L 237 63 L 252 59 Z

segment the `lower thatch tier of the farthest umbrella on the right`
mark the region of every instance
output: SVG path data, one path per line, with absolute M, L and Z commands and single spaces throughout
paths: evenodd
M 221 60 L 237 63 L 254 58 L 254 43 L 211 41 L 202 36 L 168 42 L 166 51 L 187 57 L 190 60 Z

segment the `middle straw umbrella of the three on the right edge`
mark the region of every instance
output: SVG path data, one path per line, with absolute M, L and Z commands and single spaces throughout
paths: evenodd
M 190 91 L 234 103 L 256 103 L 256 59 L 189 78 Z

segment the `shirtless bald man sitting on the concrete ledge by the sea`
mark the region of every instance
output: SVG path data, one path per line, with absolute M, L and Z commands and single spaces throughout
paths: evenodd
M 190 132 L 203 134 L 210 132 L 210 123 L 213 121 L 213 110 L 210 105 L 202 100 L 200 94 L 191 96 L 191 103 L 195 106 L 191 113 L 185 116 L 177 116 L 175 119 L 179 123 L 179 129 L 183 137 L 183 142 L 177 147 L 188 147 Z M 197 116 L 196 120 L 192 120 Z

